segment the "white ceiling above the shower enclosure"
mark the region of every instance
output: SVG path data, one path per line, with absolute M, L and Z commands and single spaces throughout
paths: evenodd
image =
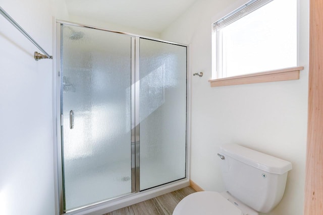
M 160 33 L 197 0 L 65 0 L 72 16 Z

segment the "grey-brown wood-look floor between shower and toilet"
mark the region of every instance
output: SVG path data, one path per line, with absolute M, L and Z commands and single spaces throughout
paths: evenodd
M 172 214 L 176 205 L 185 196 L 196 192 L 192 187 L 184 187 L 171 193 L 139 202 L 103 215 L 163 215 Z

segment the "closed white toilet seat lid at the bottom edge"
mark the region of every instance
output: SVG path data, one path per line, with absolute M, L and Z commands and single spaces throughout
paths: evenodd
M 202 191 L 183 198 L 173 215 L 243 215 L 244 213 L 218 192 Z

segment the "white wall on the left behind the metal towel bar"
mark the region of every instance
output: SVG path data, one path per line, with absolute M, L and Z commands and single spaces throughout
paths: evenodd
M 49 54 L 52 16 L 63 1 L 0 0 Z M 0 214 L 55 214 L 52 141 L 52 60 L 0 16 Z

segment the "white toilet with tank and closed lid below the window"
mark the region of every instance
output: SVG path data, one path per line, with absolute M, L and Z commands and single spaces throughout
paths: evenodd
M 281 201 L 290 162 L 231 144 L 223 145 L 218 156 L 227 192 L 192 193 L 173 215 L 257 215 Z

